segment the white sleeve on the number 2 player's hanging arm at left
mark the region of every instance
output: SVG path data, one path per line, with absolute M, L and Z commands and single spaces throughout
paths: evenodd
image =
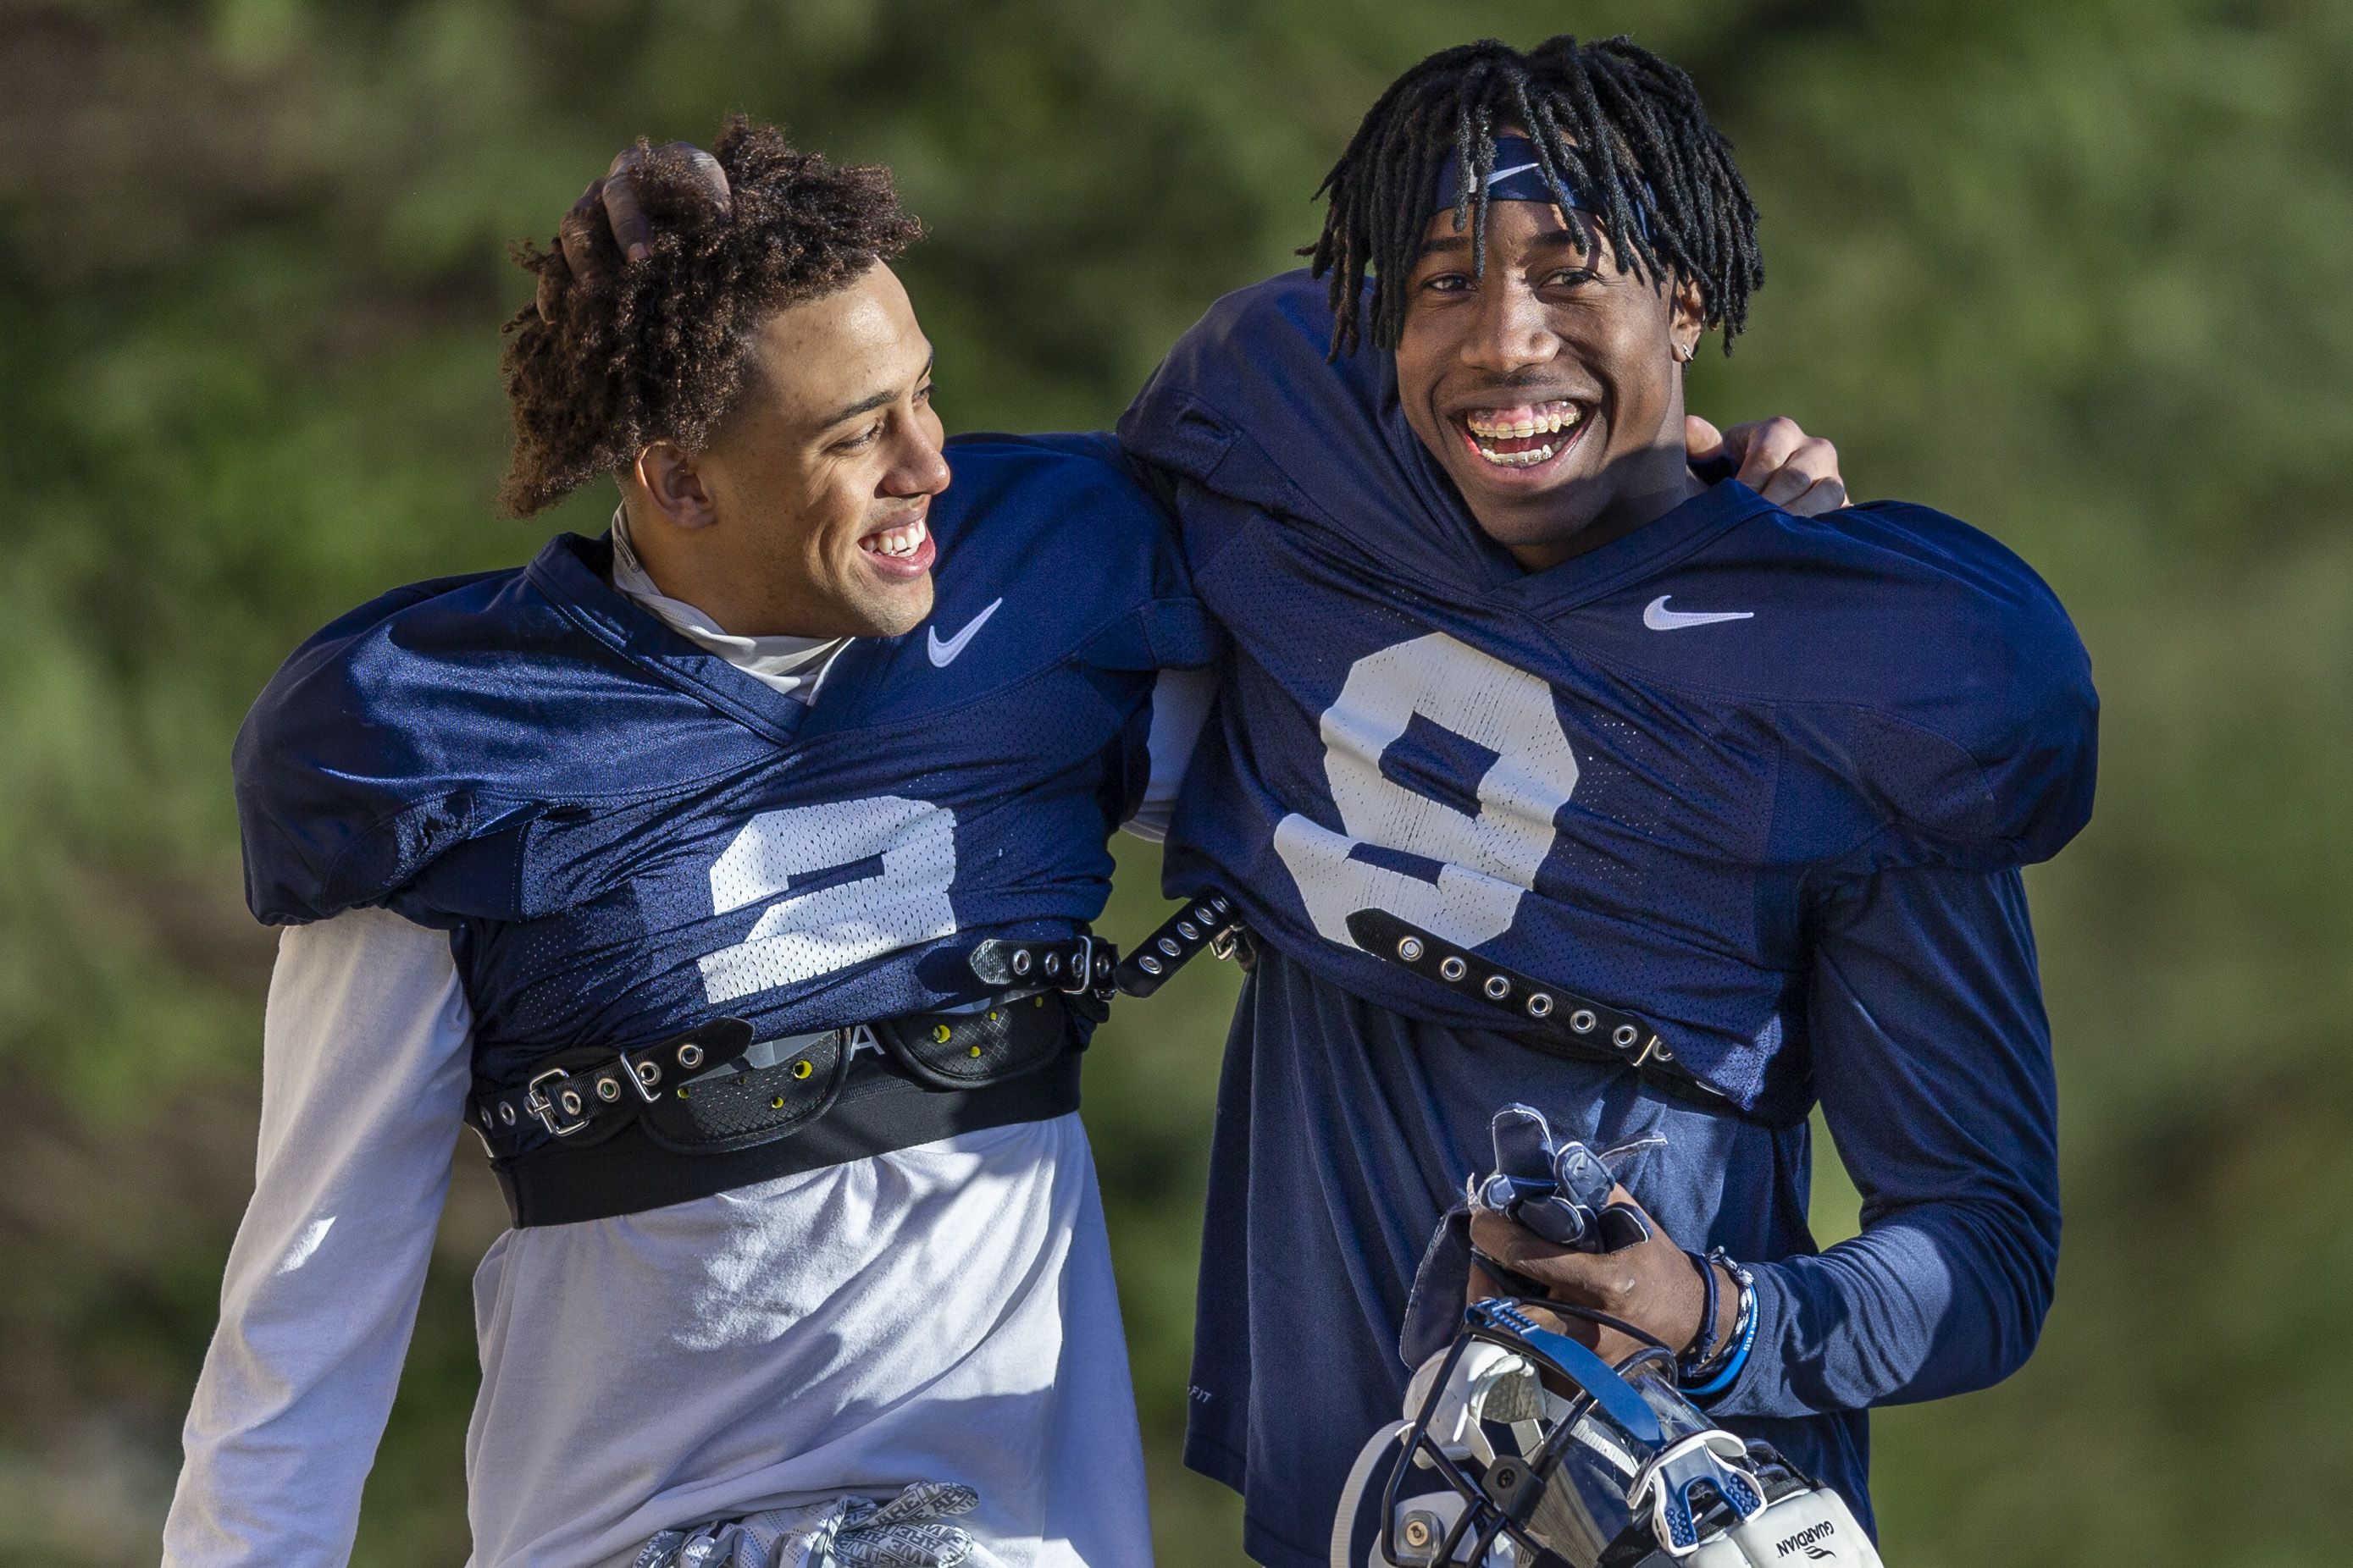
M 278 940 L 254 1199 L 184 1432 L 167 1568 L 339 1568 L 400 1382 L 473 1018 L 449 938 L 351 910 Z

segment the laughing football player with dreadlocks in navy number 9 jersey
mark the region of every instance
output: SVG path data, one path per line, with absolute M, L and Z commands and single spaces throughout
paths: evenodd
M 1424 1246 L 1525 1103 L 1631 1150 L 1640 1227 L 1588 1253 L 1473 1206 L 1452 1307 L 1664 1345 L 1868 1519 L 1864 1408 L 1995 1382 L 2052 1298 L 2019 867 L 2089 816 L 2085 651 L 1953 517 L 1807 520 L 1687 461 L 1685 364 L 1762 266 L 1675 66 L 1447 49 L 1325 195 L 1311 273 L 1214 306 L 1120 423 L 1231 639 L 1169 886 L 1259 950 L 1186 1458 L 1259 1561 L 1327 1561 Z M 1864 1199 L 1819 1255 L 1817 1105 Z

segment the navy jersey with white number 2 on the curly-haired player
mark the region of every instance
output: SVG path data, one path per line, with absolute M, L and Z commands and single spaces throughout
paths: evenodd
M 254 914 L 449 929 L 492 1081 L 967 1001 L 974 933 L 1094 919 L 1153 672 L 1214 644 L 1108 440 L 948 456 L 932 621 L 849 644 L 814 708 L 616 592 L 609 541 L 325 628 L 238 738 Z

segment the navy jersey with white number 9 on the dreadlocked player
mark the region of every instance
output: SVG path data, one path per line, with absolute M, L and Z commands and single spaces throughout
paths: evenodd
M 1918 505 L 1793 517 L 1720 482 L 1548 571 L 1485 538 L 1398 409 L 1325 362 L 1304 273 L 1221 301 L 1120 421 L 1179 475 L 1233 639 L 1169 835 L 1334 985 L 1497 1016 L 1365 952 L 1381 910 L 1642 1013 L 1741 1112 L 1802 1119 L 1805 905 L 2002 870 L 2092 809 L 2089 663 L 2042 581 Z

